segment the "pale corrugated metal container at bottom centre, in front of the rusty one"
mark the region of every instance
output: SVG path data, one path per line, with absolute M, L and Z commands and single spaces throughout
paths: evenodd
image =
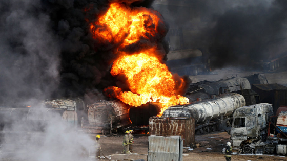
M 149 136 L 148 161 L 182 161 L 180 136 Z

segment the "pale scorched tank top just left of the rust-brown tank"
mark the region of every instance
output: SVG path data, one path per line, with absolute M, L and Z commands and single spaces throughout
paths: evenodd
M 45 100 L 44 104 L 47 107 L 52 108 L 63 108 L 68 110 L 84 110 L 85 103 L 80 98 L 71 98 L 71 99 L 57 99 L 57 100 Z

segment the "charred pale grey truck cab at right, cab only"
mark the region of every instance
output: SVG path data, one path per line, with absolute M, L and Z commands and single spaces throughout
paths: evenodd
M 237 108 L 230 131 L 233 151 L 263 153 L 261 142 L 267 138 L 268 119 L 272 115 L 273 108 L 268 103 Z

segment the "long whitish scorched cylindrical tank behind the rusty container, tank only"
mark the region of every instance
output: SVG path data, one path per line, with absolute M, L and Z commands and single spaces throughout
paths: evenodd
M 192 117 L 195 123 L 216 119 L 220 116 L 230 116 L 236 108 L 245 106 L 242 95 L 232 95 L 213 101 L 177 105 L 169 107 L 162 114 L 163 117 Z

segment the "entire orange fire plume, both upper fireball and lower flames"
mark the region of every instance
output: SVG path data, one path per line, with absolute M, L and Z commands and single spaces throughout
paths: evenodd
M 95 39 L 116 45 L 114 53 L 119 57 L 113 62 L 111 74 L 127 78 L 129 90 L 111 86 L 105 93 L 136 107 L 147 102 L 162 103 L 159 116 L 170 105 L 188 103 L 186 97 L 177 94 L 186 82 L 173 77 L 161 62 L 162 56 L 157 54 L 160 52 L 157 37 L 166 34 L 158 30 L 162 25 L 162 17 L 157 11 L 118 3 L 111 4 L 107 13 L 91 24 Z M 140 41 L 146 43 L 139 44 Z M 127 53 L 128 47 L 134 47 L 134 52 Z

